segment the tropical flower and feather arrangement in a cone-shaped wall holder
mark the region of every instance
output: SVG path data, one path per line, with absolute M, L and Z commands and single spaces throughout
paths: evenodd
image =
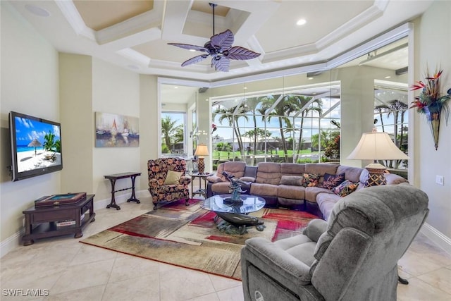
M 410 109 L 415 108 L 418 113 L 424 114 L 431 126 L 435 150 L 438 148 L 438 133 L 440 130 L 440 118 L 445 115 L 446 124 L 450 116 L 448 101 L 451 99 L 451 89 L 447 94 L 440 96 L 440 75 L 443 70 L 435 72 L 433 76 L 429 75 L 426 69 L 425 82 L 421 80 L 411 85 L 412 90 L 421 89 L 421 94 L 415 97 Z

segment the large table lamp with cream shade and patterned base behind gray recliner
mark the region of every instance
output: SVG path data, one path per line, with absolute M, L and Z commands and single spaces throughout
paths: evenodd
M 359 144 L 347 156 L 347 159 L 356 160 L 374 160 L 365 166 L 368 171 L 368 179 L 365 181 L 365 187 L 375 185 L 386 185 L 387 180 L 383 175 L 387 168 L 378 163 L 378 160 L 409 159 L 409 157 L 397 148 L 390 139 L 388 133 L 378 133 L 373 129 L 372 133 L 363 133 Z

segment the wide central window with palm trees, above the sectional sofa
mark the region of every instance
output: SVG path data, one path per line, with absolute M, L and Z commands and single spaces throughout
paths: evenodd
M 214 168 L 229 160 L 254 166 L 339 160 L 339 87 L 327 85 L 319 96 L 297 87 L 214 99 Z

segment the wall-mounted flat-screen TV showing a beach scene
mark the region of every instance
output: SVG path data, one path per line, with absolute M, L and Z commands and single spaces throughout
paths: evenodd
M 9 129 L 13 181 L 63 169 L 60 123 L 11 111 Z

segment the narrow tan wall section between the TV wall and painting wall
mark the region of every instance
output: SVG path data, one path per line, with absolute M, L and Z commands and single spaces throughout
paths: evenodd
M 94 193 L 92 182 L 92 57 L 59 54 L 62 192 Z

